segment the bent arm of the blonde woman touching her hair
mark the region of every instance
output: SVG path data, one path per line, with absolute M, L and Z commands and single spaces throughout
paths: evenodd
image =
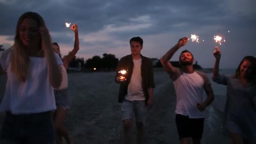
M 42 49 L 48 63 L 50 83 L 53 88 L 58 88 L 61 84 L 61 71 L 57 64 L 53 48 L 51 47 L 51 37 L 46 27 L 40 27 L 40 34 Z

